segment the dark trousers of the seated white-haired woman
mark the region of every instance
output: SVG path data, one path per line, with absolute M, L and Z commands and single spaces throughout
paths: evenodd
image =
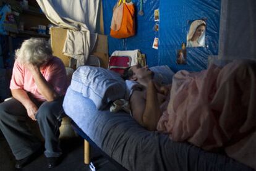
M 35 122 L 45 139 L 45 156 L 61 156 L 59 127 L 64 114 L 63 98 L 43 103 L 35 99 L 33 101 L 39 107 Z M 41 141 L 28 127 L 28 119 L 27 110 L 17 99 L 12 98 L 0 104 L 0 129 L 17 160 L 29 156 L 41 146 Z

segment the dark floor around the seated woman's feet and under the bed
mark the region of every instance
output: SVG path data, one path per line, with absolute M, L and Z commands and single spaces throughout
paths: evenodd
M 46 167 L 46 159 L 42 154 L 40 157 L 35 159 L 30 164 L 23 167 L 24 171 L 41 171 L 41 170 L 72 170 L 72 171 L 82 171 L 90 170 L 88 165 L 83 163 L 83 139 L 80 137 L 72 138 L 69 140 L 61 141 L 61 148 L 63 151 L 64 159 L 61 164 L 53 169 L 48 169 Z M 108 161 L 105 157 L 101 155 L 99 151 L 91 148 L 91 156 L 93 165 L 95 165 L 96 170 L 99 171 L 119 171 L 120 169 Z M 14 168 L 15 159 L 12 156 L 11 149 L 9 148 L 4 136 L 0 131 L 0 170 L 1 171 L 12 171 Z

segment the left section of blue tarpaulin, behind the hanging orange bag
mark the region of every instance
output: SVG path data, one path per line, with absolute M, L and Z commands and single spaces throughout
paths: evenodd
M 113 15 L 113 7 L 116 0 L 103 0 L 103 20 L 105 35 L 110 33 L 110 25 Z M 138 14 L 140 10 L 140 0 L 133 0 L 135 5 L 136 35 L 126 39 L 116 39 L 108 36 L 109 54 L 113 51 L 126 51 L 140 49 L 146 54 L 147 65 L 158 65 L 158 50 L 153 49 L 153 41 L 158 37 L 158 31 L 154 31 L 155 20 L 154 10 L 159 8 L 159 0 L 143 0 L 144 15 Z

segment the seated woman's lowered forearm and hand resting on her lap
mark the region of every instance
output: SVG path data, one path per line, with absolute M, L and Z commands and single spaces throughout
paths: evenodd
M 32 120 L 35 119 L 35 114 L 38 111 L 38 107 L 30 100 L 26 91 L 22 89 L 13 89 L 11 90 L 12 97 L 17 99 L 22 105 L 27 109 L 28 117 Z

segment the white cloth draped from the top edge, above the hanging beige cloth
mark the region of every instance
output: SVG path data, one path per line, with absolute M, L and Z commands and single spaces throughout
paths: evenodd
M 36 1 L 52 23 L 64 28 L 95 32 L 100 0 Z

